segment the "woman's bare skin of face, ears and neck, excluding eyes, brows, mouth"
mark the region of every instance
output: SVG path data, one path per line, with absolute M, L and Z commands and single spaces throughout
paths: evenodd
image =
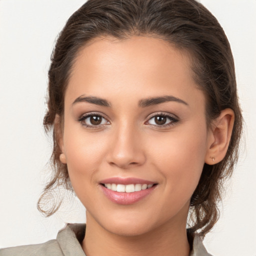
M 166 95 L 183 102 L 139 105 Z M 79 101 L 88 96 L 110 106 Z M 103 116 L 99 125 L 81 120 L 91 112 Z M 163 114 L 170 117 L 159 125 L 154 117 Z M 203 164 L 213 164 L 212 155 L 214 163 L 224 157 L 232 123 L 232 110 L 225 109 L 207 127 L 205 96 L 192 78 L 189 57 L 166 41 L 107 37 L 84 46 L 65 92 L 59 143 L 60 159 L 86 207 L 85 254 L 188 255 L 190 197 Z M 100 189 L 100 180 L 109 177 L 157 185 L 142 200 L 120 205 Z

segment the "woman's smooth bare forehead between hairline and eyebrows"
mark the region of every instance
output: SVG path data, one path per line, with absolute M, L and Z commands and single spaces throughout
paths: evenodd
M 65 98 L 97 94 L 114 100 L 121 93 L 130 98 L 169 93 L 182 98 L 196 90 L 188 53 L 167 41 L 150 36 L 98 37 L 79 51 Z

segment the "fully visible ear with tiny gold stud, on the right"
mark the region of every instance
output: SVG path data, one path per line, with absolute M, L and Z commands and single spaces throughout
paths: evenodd
M 220 162 L 227 151 L 234 124 L 234 112 L 226 108 L 212 121 L 208 130 L 207 152 L 205 163 L 215 164 Z

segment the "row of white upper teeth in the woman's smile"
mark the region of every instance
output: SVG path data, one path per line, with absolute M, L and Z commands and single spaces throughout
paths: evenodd
M 140 190 L 145 190 L 153 186 L 153 184 L 115 184 L 115 183 L 104 183 L 107 189 L 117 192 L 132 193 Z

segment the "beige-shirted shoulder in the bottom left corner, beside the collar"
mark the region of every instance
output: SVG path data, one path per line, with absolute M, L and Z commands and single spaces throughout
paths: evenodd
M 56 240 L 49 240 L 40 244 L 22 245 L 0 249 L 0 256 L 36 256 L 36 255 L 63 255 Z

